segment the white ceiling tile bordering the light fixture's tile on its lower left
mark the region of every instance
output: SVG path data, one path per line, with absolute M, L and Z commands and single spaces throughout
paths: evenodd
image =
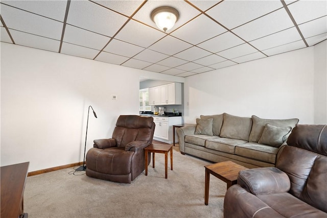
M 130 20 L 115 38 L 138 46 L 149 47 L 165 35 L 165 33 Z

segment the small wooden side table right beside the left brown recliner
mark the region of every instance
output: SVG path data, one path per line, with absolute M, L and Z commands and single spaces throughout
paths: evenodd
M 155 153 L 165 153 L 165 178 L 168 177 L 168 152 L 170 152 L 170 168 L 173 170 L 173 146 L 171 144 L 150 144 L 145 150 L 145 175 L 148 176 L 148 153 L 152 153 L 152 167 L 154 168 Z M 150 156 L 151 158 L 151 156 Z

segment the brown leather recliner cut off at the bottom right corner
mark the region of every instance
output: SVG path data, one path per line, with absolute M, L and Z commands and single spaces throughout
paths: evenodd
M 275 167 L 241 171 L 224 217 L 327 217 L 327 125 L 296 125 Z

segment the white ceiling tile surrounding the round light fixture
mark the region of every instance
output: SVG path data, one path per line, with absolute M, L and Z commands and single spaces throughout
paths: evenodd
M 179 19 L 175 23 L 174 27 L 167 31 L 167 33 L 171 33 L 176 30 L 178 27 L 183 25 L 185 22 L 188 22 L 193 17 L 200 14 L 198 10 L 190 6 L 188 3 L 184 1 L 147 1 L 146 4 L 133 16 L 133 19 L 139 20 L 147 25 L 155 28 L 157 31 L 160 31 L 155 23 L 151 20 L 151 12 L 160 7 L 160 6 L 170 6 L 178 10 Z

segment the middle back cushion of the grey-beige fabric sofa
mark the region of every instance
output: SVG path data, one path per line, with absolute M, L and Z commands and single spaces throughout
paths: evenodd
M 228 113 L 223 114 L 224 121 L 221 127 L 220 137 L 248 141 L 252 127 L 252 119 L 250 117 L 233 116 Z

